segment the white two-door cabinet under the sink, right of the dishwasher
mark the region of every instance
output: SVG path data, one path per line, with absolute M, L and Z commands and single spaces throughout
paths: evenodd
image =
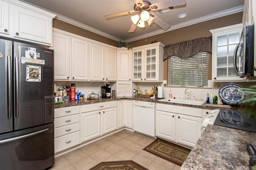
M 156 104 L 156 136 L 193 147 L 201 135 L 202 109 Z

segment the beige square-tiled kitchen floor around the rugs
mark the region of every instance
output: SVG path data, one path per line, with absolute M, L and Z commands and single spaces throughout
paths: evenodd
M 133 160 L 150 170 L 179 170 L 180 166 L 142 150 L 155 139 L 122 130 L 55 158 L 50 170 L 88 170 L 102 161 Z

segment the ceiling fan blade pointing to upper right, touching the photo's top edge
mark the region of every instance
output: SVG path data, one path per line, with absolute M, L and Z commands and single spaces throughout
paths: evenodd
M 161 10 L 164 8 L 169 8 L 172 6 L 180 6 L 186 4 L 186 0 L 163 0 L 162 2 L 158 2 L 156 4 L 150 5 L 152 11 Z

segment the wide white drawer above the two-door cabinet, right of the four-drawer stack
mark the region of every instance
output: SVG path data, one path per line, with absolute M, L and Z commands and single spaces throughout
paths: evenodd
M 116 107 L 117 102 L 101 102 L 97 104 L 87 104 L 81 106 L 81 113 L 88 112 L 88 111 L 95 111 L 95 110 L 100 110 L 100 109 L 107 109 L 110 107 Z

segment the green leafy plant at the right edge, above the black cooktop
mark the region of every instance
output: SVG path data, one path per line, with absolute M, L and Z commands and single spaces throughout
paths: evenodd
M 256 81 L 252 81 L 256 82 Z M 247 97 L 245 100 L 239 103 L 240 107 L 243 108 L 243 112 L 248 110 L 248 117 L 252 114 L 256 119 L 256 85 L 250 86 L 249 88 L 241 88 L 243 93 Z M 250 108 L 248 108 L 250 106 Z

